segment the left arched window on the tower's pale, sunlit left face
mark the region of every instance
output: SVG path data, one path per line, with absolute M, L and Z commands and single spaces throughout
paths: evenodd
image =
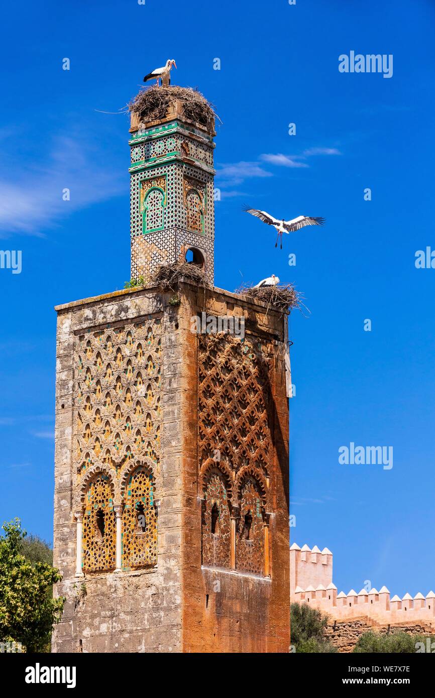
M 107 475 L 89 483 L 83 517 L 83 570 L 100 572 L 116 566 L 116 521 Z

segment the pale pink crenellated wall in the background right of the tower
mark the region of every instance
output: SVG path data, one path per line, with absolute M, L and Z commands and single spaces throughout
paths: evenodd
M 315 545 L 300 548 L 296 543 L 290 547 L 290 601 L 309 603 L 334 620 L 367 616 L 374 623 L 426 623 L 435 627 L 435 593 L 429 591 L 412 597 L 406 593 L 390 599 L 386 586 L 359 593 L 351 589 L 348 594 L 337 593 L 332 582 L 332 553 L 327 548 L 320 552 Z

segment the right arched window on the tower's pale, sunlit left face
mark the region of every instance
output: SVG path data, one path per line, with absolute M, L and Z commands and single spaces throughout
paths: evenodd
M 122 514 L 124 570 L 157 562 L 157 515 L 152 470 L 140 466 L 128 478 Z

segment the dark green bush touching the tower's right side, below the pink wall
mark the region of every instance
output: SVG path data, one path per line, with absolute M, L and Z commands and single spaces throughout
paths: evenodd
M 291 644 L 297 653 L 337 652 L 332 643 L 326 639 L 327 617 L 318 609 L 308 604 L 290 605 Z

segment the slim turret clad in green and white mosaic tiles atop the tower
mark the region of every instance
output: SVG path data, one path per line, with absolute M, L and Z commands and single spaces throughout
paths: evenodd
M 202 100 L 198 93 L 166 90 L 176 90 L 177 99 L 168 101 L 163 118 L 131 112 L 131 277 L 146 279 L 191 250 L 213 285 L 214 119 L 186 116 L 192 98 Z

